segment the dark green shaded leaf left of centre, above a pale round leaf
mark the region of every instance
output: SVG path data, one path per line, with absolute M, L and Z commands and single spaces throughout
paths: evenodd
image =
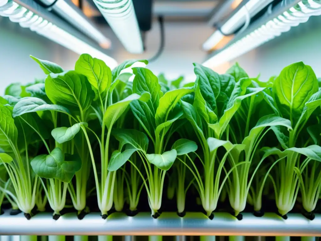
M 119 142 L 128 143 L 137 150 L 147 151 L 149 140 L 143 132 L 135 129 L 113 129 L 111 133 Z

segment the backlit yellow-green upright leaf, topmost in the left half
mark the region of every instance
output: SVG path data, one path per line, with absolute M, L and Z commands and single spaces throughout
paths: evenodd
M 82 54 L 75 64 L 75 71 L 87 77 L 94 89 L 103 93 L 112 82 L 111 70 L 104 61 Z

